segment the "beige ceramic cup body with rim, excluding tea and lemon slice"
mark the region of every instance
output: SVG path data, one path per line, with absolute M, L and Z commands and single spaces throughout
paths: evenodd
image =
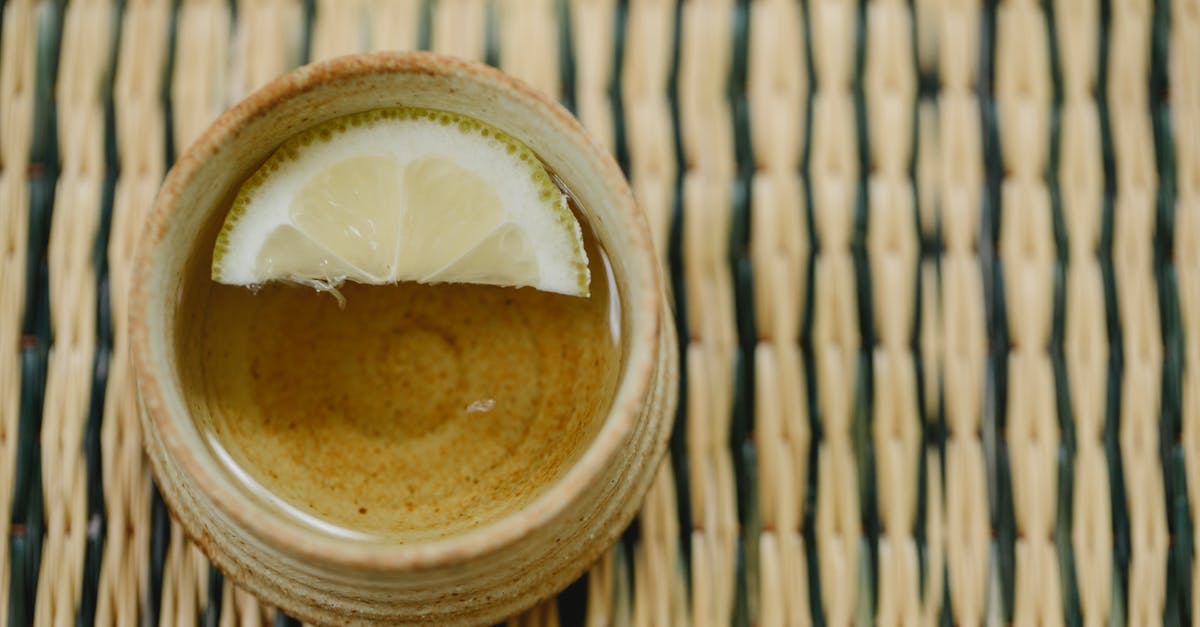
M 408 545 L 317 535 L 266 509 L 210 453 L 180 386 L 174 334 L 197 233 L 286 138 L 379 107 L 476 117 L 527 142 L 580 198 L 620 289 L 624 364 L 605 424 L 528 507 Z M 616 541 L 666 450 L 677 348 L 644 217 L 613 160 L 562 107 L 484 66 L 427 53 L 335 59 L 287 74 L 222 115 L 179 160 L 143 232 L 132 351 L 145 449 L 176 521 L 236 584 L 322 623 L 484 623 L 565 587 Z

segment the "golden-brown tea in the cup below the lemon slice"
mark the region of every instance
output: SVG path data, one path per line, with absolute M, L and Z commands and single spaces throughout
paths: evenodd
M 590 442 L 620 369 L 616 283 L 580 222 L 590 298 L 347 282 L 343 309 L 214 283 L 197 253 L 176 329 L 197 426 L 257 498 L 337 536 L 419 542 L 527 504 Z

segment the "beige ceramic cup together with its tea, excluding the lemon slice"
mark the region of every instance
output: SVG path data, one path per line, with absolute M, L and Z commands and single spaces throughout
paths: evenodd
M 524 141 L 580 201 L 593 298 L 347 285 L 340 310 L 307 288 L 214 285 L 241 180 L 288 137 L 383 107 Z M 674 329 L 619 168 L 556 103 L 434 54 L 306 66 L 222 115 L 160 191 L 131 312 L 145 448 L 173 515 L 236 584 L 312 622 L 532 607 L 620 535 L 671 432 Z

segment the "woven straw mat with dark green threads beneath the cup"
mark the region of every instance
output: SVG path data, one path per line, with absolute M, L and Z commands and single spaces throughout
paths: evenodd
M 1200 0 L 2 0 L 0 626 L 288 625 L 140 449 L 131 251 L 308 60 L 571 108 L 668 268 L 671 454 L 514 625 L 1200 625 Z

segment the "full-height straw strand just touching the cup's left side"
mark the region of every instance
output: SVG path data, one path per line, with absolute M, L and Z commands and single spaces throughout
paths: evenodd
M 149 473 L 142 456 L 125 321 L 134 240 L 164 173 L 167 143 L 161 94 L 169 18 L 166 1 L 131 2 L 126 7 L 113 89 L 120 177 L 107 253 L 113 358 L 101 441 L 107 453 L 103 467 L 108 525 L 96 611 L 96 622 L 103 625 L 136 621 L 146 595 Z

